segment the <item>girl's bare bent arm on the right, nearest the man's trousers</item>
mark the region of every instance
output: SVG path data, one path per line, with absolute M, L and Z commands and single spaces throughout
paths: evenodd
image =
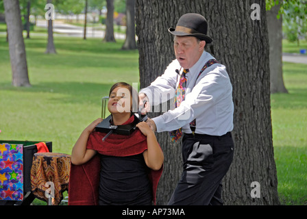
M 140 129 L 144 136 L 147 136 L 147 150 L 143 153 L 146 165 L 152 170 L 160 170 L 164 161 L 164 155 L 155 133 L 145 122 L 138 123 L 136 127 Z

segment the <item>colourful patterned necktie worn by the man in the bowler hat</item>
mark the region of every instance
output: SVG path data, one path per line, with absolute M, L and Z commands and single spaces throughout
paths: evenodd
M 180 103 L 184 101 L 184 96 L 186 92 L 186 74 L 188 69 L 184 69 L 182 75 L 180 76 L 179 84 L 175 92 L 175 107 L 179 107 Z M 172 142 L 177 142 L 178 139 L 182 136 L 182 128 L 170 131 L 169 135 L 171 136 Z

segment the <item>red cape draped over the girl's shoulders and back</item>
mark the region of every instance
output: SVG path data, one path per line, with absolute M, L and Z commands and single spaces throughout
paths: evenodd
M 134 120 L 132 116 L 125 124 Z M 116 157 L 138 155 L 147 149 L 147 138 L 136 129 L 131 136 L 111 134 L 102 142 L 106 133 L 93 131 L 88 137 L 87 149 L 94 149 L 100 154 Z M 100 156 L 95 155 L 90 161 L 82 165 L 71 164 L 69 176 L 69 205 L 98 205 L 98 187 L 100 174 Z M 149 180 L 152 185 L 153 203 L 156 205 L 156 190 L 162 175 L 160 170 L 151 170 Z

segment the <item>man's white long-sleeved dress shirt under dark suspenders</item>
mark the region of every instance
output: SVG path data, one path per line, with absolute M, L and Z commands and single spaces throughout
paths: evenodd
M 233 129 L 234 104 L 232 102 L 232 84 L 222 64 L 212 64 L 198 77 L 201 68 L 213 59 L 204 51 L 199 60 L 189 68 L 186 74 L 185 99 L 179 107 L 152 118 L 158 132 L 173 131 L 182 127 L 184 133 L 192 133 L 189 123 L 196 118 L 195 133 L 210 136 L 223 136 Z M 183 68 L 177 60 L 173 60 L 164 71 L 147 88 L 140 90 L 145 93 L 151 106 L 159 105 L 175 96 Z M 197 81 L 196 81 L 197 80 Z M 157 107 L 153 107 L 156 112 Z M 163 111 L 163 107 L 162 107 Z

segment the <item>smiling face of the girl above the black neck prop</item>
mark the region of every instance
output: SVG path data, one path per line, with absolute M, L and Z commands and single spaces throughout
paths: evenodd
M 111 114 L 131 113 L 132 96 L 130 90 L 125 87 L 117 87 L 109 96 L 108 110 Z

